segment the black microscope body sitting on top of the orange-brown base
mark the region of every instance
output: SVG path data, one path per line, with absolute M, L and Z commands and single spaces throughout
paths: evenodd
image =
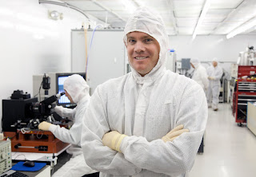
M 22 95 L 23 91 L 16 90 L 14 93 Z M 38 98 L 30 98 L 30 96 L 26 99 L 13 99 L 11 96 L 11 99 L 2 100 L 3 132 L 16 132 L 21 128 L 35 129 L 42 121 L 53 121 L 54 102 L 63 94 L 64 92 L 58 93 L 40 102 Z

